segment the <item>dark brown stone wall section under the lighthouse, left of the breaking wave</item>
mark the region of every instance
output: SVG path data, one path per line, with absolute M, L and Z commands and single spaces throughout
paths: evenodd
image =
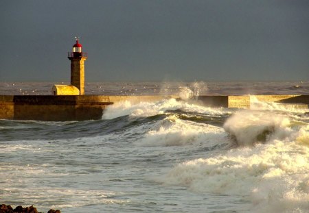
M 84 121 L 102 118 L 106 96 L 0 96 L 0 119 L 37 121 Z

